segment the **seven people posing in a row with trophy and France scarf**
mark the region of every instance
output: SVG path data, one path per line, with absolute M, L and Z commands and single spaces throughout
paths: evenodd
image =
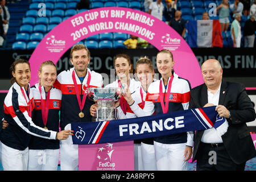
M 28 61 L 18 59 L 11 65 L 14 83 L 4 101 L 0 133 L 4 170 L 56 170 L 59 151 L 60 169 L 77 170 L 78 145 L 72 143 L 69 135 L 73 131 L 68 124 L 92 121 L 97 107 L 84 90 L 101 88 L 103 81 L 100 73 L 88 68 L 90 52 L 83 44 L 72 47 L 70 61 L 73 68 L 58 76 L 52 61 L 42 63 L 39 83 L 31 88 Z M 194 131 L 143 139 L 143 169 L 187 170 L 193 153 L 197 170 L 243 170 L 246 161 L 256 156 L 246 126 L 246 122 L 254 121 L 256 114 L 245 87 L 223 81 L 220 63 L 207 60 L 201 67 L 205 83 L 191 90 L 189 81 L 175 73 L 175 61 L 179 60 L 175 60 L 171 51 L 159 51 L 156 66 L 161 78 L 154 80 L 151 60 L 142 57 L 135 65 L 139 80 L 136 81 L 130 77 L 133 72 L 130 57 L 124 53 L 114 57 L 118 78 L 106 87 L 125 90 L 115 102 L 119 119 L 216 105 L 220 117 L 228 121 L 228 129 L 224 135 L 214 129 L 196 131 L 195 143 Z M 171 93 L 177 95 L 176 100 L 172 100 Z M 209 151 L 216 151 L 216 164 L 209 164 Z

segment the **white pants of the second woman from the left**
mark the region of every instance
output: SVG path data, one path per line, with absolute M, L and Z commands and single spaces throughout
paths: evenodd
M 28 171 L 57 171 L 59 149 L 29 150 Z

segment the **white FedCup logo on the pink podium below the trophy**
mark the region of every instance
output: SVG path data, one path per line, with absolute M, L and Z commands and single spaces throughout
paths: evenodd
M 112 143 L 105 143 L 102 147 L 97 148 L 97 170 L 99 171 L 106 171 L 106 170 L 114 170 L 115 163 L 112 162 L 113 156 L 113 144 Z

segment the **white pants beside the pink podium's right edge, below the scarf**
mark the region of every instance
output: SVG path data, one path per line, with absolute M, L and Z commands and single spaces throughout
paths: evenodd
M 143 171 L 156 171 L 155 147 L 153 144 L 141 143 Z

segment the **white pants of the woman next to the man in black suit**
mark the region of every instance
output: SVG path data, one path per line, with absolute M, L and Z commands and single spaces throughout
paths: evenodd
M 184 162 L 187 143 L 163 144 L 154 141 L 156 166 L 159 171 L 187 171 L 188 161 Z

